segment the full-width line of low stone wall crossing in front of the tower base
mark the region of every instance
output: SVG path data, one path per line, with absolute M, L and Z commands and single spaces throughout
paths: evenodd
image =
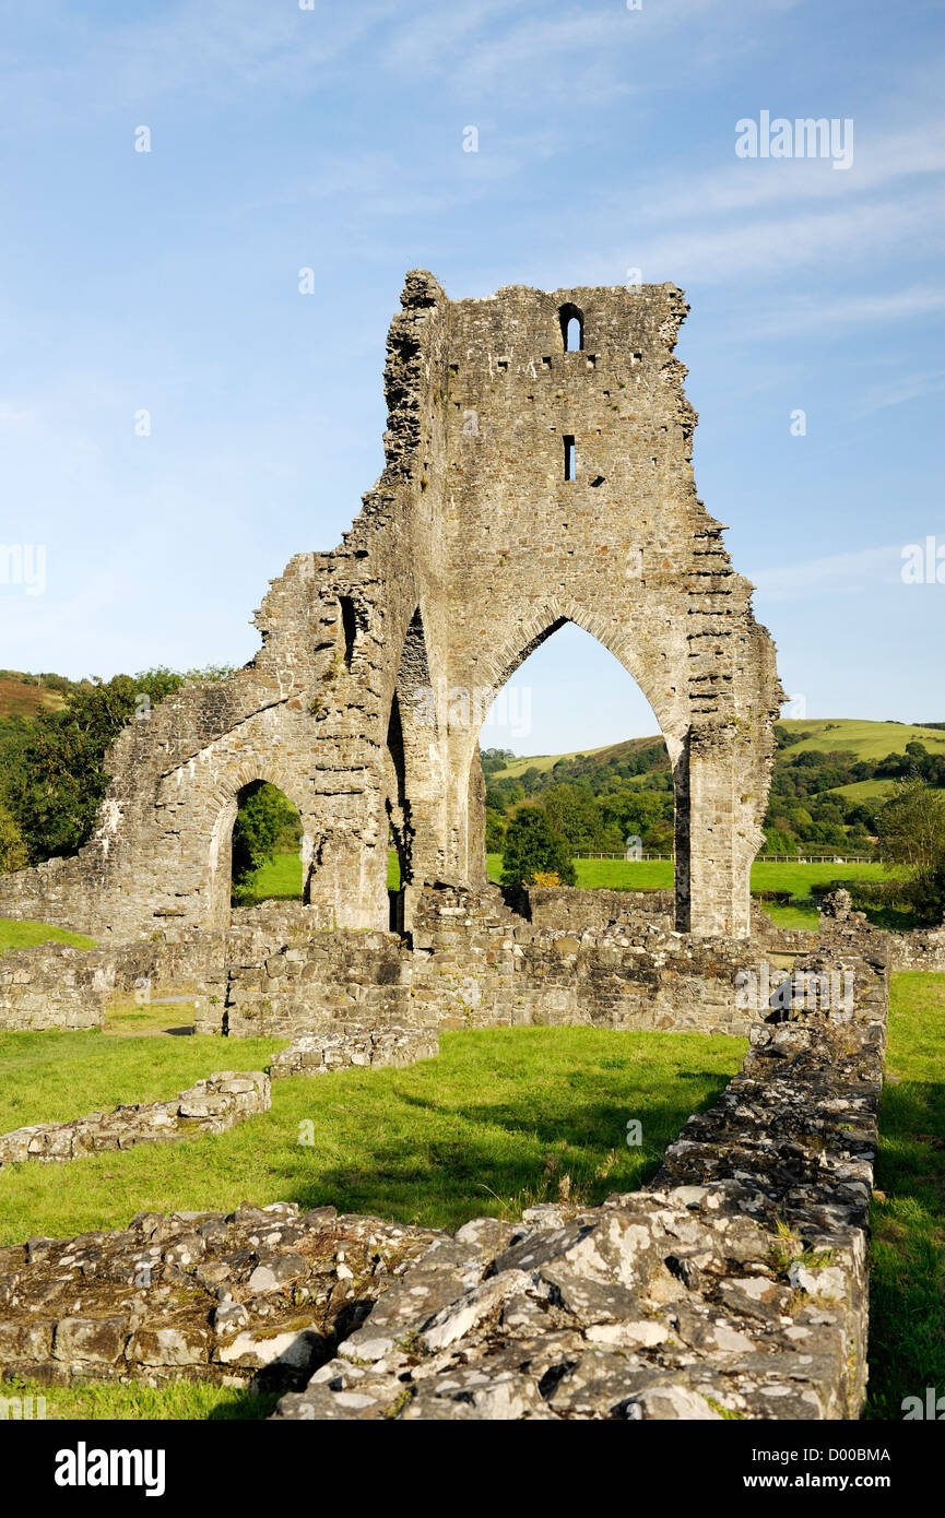
M 270 902 L 234 912 L 226 932 L 169 929 L 91 950 L 43 944 L 0 956 L 0 1028 L 96 1026 L 109 996 L 173 988 L 194 999 L 198 1032 L 237 1037 L 292 1038 L 339 1022 L 377 1029 L 573 1022 L 743 1035 L 764 1008 L 746 1006 L 738 984 L 764 978 L 769 958 L 796 959 L 823 943 L 893 968 L 945 968 L 942 929 L 884 934 L 848 912 L 822 917 L 817 937 L 776 927 L 755 908 L 752 938 L 694 938 L 659 912 L 609 920 L 626 896 L 535 891 L 527 918 L 497 887 L 409 888 L 409 943 L 398 934 L 325 931 L 321 909 Z M 577 923 L 582 914 L 580 927 L 542 926 L 544 915 Z

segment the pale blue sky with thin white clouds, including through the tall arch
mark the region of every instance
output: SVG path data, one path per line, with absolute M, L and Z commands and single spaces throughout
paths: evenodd
M 945 720 L 945 3 L 0 3 L 0 663 L 242 663 L 381 466 L 403 275 L 687 290 L 696 481 L 808 716 Z M 735 123 L 854 123 L 854 162 Z M 479 152 L 463 152 L 463 128 Z M 134 150 L 147 126 L 152 150 Z M 311 267 L 318 293 L 299 294 Z M 150 436 L 135 436 L 135 413 Z M 792 413 L 807 417 L 792 436 Z M 945 571 L 943 571 L 945 577 Z M 518 751 L 655 730 L 565 628 Z

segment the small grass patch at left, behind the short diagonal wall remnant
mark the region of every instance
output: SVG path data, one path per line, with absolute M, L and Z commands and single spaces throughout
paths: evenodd
M 175 1008 L 166 1008 L 166 1025 L 173 1022 L 169 1011 Z M 146 1008 L 144 1017 L 152 1013 Z M 264 1069 L 283 1044 L 284 1038 L 214 1035 L 109 1038 L 96 1028 L 0 1032 L 0 1132 L 59 1123 L 122 1102 L 166 1102 L 214 1070 Z M 52 1166 L 53 1173 L 61 1184 L 64 1170 Z

